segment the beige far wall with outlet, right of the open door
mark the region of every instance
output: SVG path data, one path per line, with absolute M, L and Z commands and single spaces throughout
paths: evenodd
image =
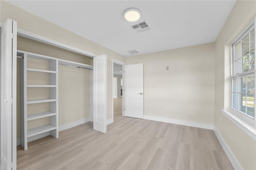
M 144 63 L 144 115 L 214 124 L 214 43 L 127 57 L 126 62 Z

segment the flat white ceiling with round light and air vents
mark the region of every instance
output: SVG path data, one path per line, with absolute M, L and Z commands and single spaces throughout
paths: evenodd
M 8 1 L 124 56 L 214 42 L 236 1 Z M 150 30 L 136 33 L 123 12 L 138 8 Z M 128 51 L 139 53 L 130 54 Z

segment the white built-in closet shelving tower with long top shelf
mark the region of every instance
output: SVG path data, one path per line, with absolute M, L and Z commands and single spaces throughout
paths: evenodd
M 20 145 L 51 135 L 58 138 L 58 65 L 92 65 L 17 51 L 20 58 Z

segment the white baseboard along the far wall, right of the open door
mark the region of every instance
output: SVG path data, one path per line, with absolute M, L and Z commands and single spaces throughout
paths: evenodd
M 178 125 L 185 125 L 190 127 L 198 127 L 198 128 L 206 128 L 213 130 L 213 125 L 206 124 L 206 123 L 199 123 L 199 122 L 192 122 L 192 121 L 182 121 L 179 119 L 170 119 L 165 117 L 156 117 L 156 116 L 149 116 L 144 115 L 144 119 L 152 120 L 152 121 L 159 121 L 159 122 L 166 122 L 166 123 L 173 123 Z

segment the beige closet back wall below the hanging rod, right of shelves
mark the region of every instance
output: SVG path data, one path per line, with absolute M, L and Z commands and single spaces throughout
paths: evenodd
M 59 65 L 59 125 L 90 118 L 90 70 Z

